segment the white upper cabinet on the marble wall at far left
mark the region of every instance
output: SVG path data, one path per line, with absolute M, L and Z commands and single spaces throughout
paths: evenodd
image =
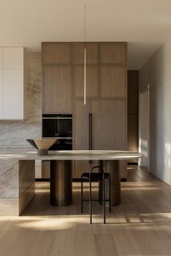
M 0 64 L 0 120 L 24 120 L 26 118 L 24 59 L 23 47 L 1 47 L 0 49 L 0 63 L 2 64 Z

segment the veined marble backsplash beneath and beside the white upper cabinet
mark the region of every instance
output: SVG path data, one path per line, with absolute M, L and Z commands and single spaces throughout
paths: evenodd
M 27 54 L 28 119 L 0 121 L 0 150 L 30 148 L 26 139 L 41 137 L 41 52 Z

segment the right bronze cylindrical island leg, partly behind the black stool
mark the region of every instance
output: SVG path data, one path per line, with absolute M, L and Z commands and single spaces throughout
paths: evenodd
M 120 205 L 120 161 L 119 160 L 104 160 L 100 161 L 100 165 L 103 166 L 104 172 L 110 173 L 111 177 L 111 205 Z M 106 198 L 109 199 L 109 183 L 106 181 Z M 103 198 L 103 186 L 99 181 L 99 204 L 102 204 Z

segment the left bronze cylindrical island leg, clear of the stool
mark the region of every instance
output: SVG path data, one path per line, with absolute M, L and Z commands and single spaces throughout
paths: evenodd
M 51 160 L 50 202 L 53 206 L 72 204 L 72 168 L 68 160 Z

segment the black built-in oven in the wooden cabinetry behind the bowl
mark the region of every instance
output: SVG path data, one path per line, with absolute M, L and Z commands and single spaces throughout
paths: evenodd
M 49 150 L 72 150 L 72 115 L 44 114 L 42 133 L 43 138 L 58 139 Z

